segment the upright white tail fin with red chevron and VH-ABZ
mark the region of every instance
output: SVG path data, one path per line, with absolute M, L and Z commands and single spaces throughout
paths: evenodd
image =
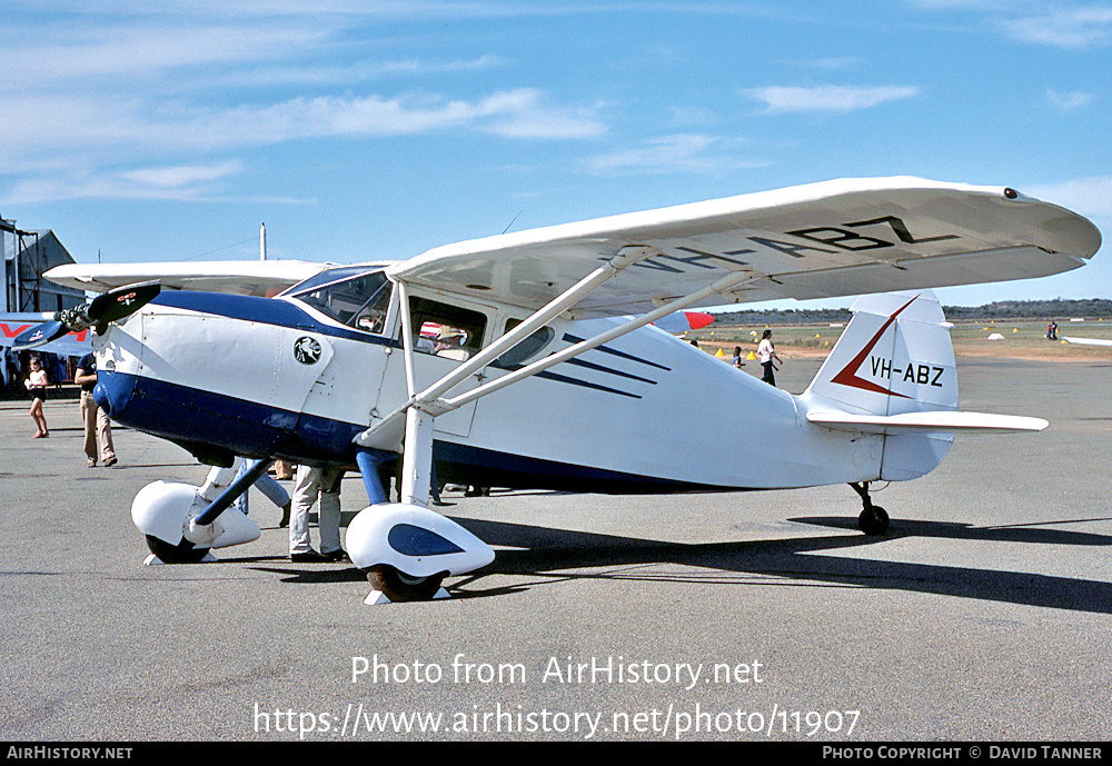
M 954 348 L 933 292 L 865 296 L 851 310 L 804 396 L 866 415 L 957 409 Z

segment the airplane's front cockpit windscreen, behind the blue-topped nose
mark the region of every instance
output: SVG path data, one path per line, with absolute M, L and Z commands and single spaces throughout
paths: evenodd
M 335 269 L 319 273 L 289 295 L 348 327 L 381 334 L 390 306 L 391 285 L 381 271 L 355 270 L 358 276 L 350 277 L 351 271 Z M 334 279 L 324 283 L 318 281 L 328 276 Z

